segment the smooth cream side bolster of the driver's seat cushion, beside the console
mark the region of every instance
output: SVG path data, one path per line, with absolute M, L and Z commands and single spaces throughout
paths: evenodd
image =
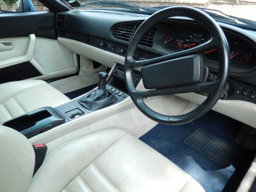
M 126 132 L 102 130 L 61 145 L 32 178 L 28 192 L 61 191 Z

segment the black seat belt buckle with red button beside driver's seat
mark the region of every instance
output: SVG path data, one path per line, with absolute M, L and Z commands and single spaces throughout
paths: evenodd
M 34 151 L 35 151 L 35 169 L 34 174 L 38 171 L 40 166 L 42 166 L 44 162 L 44 157 L 46 157 L 47 152 L 47 146 L 45 144 L 36 144 L 33 145 Z

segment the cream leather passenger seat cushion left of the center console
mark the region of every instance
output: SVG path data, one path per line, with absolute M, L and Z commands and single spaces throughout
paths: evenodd
M 69 98 L 42 80 L 0 84 L 0 122 L 40 107 L 56 107 L 67 101 Z

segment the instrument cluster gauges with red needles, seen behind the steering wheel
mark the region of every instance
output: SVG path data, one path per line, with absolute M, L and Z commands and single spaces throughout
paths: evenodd
M 255 48 L 247 40 L 228 34 L 230 65 L 237 68 L 250 68 L 255 62 Z M 196 47 L 210 39 L 208 32 L 177 30 L 168 32 L 163 37 L 162 46 L 172 51 L 183 51 Z M 205 59 L 218 61 L 218 49 L 209 48 L 202 53 Z

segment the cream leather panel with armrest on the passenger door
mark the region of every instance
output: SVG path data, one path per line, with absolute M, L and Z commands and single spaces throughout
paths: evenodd
M 42 76 L 36 78 L 42 80 L 72 74 L 77 70 L 76 55 L 57 40 L 31 34 L 29 37 L 0 41 L 13 43 L 13 50 L 0 51 L 0 69 L 30 61 L 42 73 Z

